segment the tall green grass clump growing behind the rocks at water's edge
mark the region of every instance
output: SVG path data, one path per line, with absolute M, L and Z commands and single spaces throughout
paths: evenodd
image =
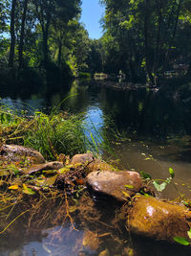
M 59 153 L 70 156 L 86 151 L 88 140 L 83 132 L 83 119 L 76 115 L 46 115 L 35 112 L 33 125 L 24 136 L 24 145 L 40 151 L 45 158 Z

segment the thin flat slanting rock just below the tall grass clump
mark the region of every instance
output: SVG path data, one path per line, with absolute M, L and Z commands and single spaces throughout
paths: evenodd
M 32 165 L 29 169 L 25 170 L 26 175 L 32 175 L 34 173 L 46 171 L 46 170 L 59 170 L 63 168 L 64 165 L 61 162 L 48 162 L 46 164 L 38 164 L 38 165 Z

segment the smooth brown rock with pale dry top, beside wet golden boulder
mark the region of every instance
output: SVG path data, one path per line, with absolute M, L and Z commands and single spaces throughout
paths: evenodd
M 140 175 L 129 171 L 97 171 L 87 176 L 87 185 L 96 194 L 117 198 L 120 201 L 134 196 L 143 187 Z

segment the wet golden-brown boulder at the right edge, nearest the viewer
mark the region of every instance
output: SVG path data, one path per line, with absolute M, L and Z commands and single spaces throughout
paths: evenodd
M 135 197 L 127 225 L 135 234 L 174 242 L 175 237 L 188 239 L 191 212 L 183 206 L 157 198 Z

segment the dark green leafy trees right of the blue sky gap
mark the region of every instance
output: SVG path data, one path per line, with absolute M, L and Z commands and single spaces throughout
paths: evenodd
M 129 79 L 147 78 L 155 83 L 173 64 L 190 63 L 190 0 L 142 1 L 101 0 L 106 7 L 102 19 L 105 34 L 104 71 L 124 69 Z

